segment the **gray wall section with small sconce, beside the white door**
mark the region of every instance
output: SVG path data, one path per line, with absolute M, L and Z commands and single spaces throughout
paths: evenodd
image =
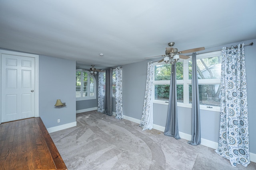
M 39 56 L 39 116 L 46 128 L 76 121 L 75 78 L 76 61 Z M 67 106 L 54 107 L 57 99 Z

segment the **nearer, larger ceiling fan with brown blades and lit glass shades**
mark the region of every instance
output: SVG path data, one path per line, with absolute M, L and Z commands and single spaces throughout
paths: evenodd
M 205 50 L 204 47 L 199 47 L 199 48 L 195 48 L 195 49 L 188 49 L 188 50 L 184 50 L 184 51 L 178 51 L 178 49 L 172 48 L 172 46 L 174 45 L 174 42 L 170 42 L 170 43 L 168 43 L 168 45 L 170 47 L 166 48 L 165 55 L 154 56 L 154 57 L 159 57 L 159 56 L 164 57 L 164 59 L 158 61 L 158 63 L 161 63 L 162 61 L 164 61 L 165 63 L 168 63 L 170 61 L 170 63 L 173 64 L 173 63 L 177 62 L 178 59 L 189 59 L 188 56 L 182 55 L 182 54 L 193 53 L 193 52 L 196 52 L 196 51 Z M 151 57 L 146 57 L 146 58 L 151 58 Z

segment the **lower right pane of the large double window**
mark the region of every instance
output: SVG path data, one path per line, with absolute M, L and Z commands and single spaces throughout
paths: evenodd
M 199 103 L 220 106 L 220 84 L 199 84 Z M 189 84 L 189 103 L 192 103 L 192 84 Z

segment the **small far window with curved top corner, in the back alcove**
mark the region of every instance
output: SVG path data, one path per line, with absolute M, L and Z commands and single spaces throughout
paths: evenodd
M 76 71 L 76 100 L 96 99 L 96 81 L 88 71 Z

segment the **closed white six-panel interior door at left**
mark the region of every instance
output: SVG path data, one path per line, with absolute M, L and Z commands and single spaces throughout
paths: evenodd
M 35 59 L 2 54 L 1 121 L 35 116 Z

